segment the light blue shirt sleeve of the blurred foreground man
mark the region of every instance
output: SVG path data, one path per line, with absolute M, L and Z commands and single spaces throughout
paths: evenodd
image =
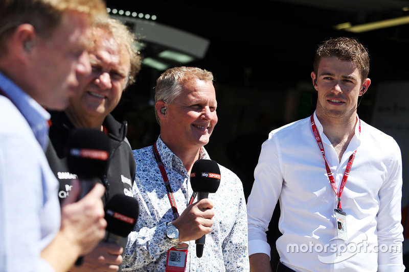
M 42 171 L 30 143 L 0 137 L 0 271 L 52 272 L 40 257 Z

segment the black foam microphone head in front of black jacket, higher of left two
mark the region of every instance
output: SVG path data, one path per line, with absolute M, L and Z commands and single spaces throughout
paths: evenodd
M 102 131 L 77 128 L 66 142 L 67 164 L 70 171 L 82 178 L 102 175 L 109 157 L 109 140 Z

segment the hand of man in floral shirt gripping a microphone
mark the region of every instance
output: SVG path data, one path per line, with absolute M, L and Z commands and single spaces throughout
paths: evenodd
M 193 203 L 183 213 L 172 222 L 179 230 L 179 241 L 197 240 L 212 231 L 214 211 L 213 202 L 209 199 L 202 199 Z

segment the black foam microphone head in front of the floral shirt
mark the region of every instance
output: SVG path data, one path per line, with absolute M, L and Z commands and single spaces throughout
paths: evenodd
M 215 193 L 220 185 L 220 168 L 216 161 L 195 161 L 190 171 L 190 184 L 195 192 Z

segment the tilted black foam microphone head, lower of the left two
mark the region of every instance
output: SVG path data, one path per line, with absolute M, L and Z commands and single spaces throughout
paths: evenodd
M 137 224 L 138 201 L 124 194 L 116 194 L 105 206 L 106 231 L 127 237 Z

